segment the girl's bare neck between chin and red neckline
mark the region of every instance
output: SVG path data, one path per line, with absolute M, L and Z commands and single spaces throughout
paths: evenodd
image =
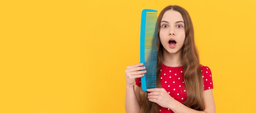
M 176 53 L 169 53 L 165 49 L 163 50 L 164 60 L 163 63 L 169 67 L 179 67 L 182 65 L 181 61 L 181 51 Z

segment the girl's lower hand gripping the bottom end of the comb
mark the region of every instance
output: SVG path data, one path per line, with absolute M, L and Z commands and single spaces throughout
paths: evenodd
M 173 98 L 167 93 L 164 88 L 148 89 L 148 99 L 151 102 L 157 103 L 164 108 L 170 108 Z

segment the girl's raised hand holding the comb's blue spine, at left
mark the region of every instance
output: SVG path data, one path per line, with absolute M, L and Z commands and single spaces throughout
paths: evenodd
M 135 79 L 144 76 L 146 73 L 146 67 L 141 66 L 143 66 L 143 63 L 138 63 L 127 67 L 125 70 L 127 87 L 133 87 L 135 85 Z

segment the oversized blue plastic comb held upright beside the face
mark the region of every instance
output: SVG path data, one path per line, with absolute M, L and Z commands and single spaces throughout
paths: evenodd
M 141 14 L 140 62 L 146 66 L 141 77 L 143 91 L 156 88 L 157 82 L 157 11 L 144 9 Z

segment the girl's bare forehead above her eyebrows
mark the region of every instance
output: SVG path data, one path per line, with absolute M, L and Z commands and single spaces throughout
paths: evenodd
M 174 11 L 174 10 L 168 10 L 164 12 L 164 15 L 161 21 L 177 22 L 177 21 L 183 21 L 183 18 L 180 12 Z

